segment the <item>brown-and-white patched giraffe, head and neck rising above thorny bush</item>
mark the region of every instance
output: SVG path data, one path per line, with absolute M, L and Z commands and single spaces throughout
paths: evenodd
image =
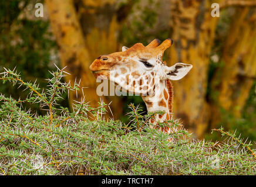
M 98 57 L 89 69 L 96 78 L 109 79 L 124 90 L 142 96 L 148 112 L 164 111 L 164 115 L 156 114 L 150 122 L 170 120 L 173 116 L 172 81 L 183 78 L 193 65 L 176 63 L 171 67 L 162 60 L 164 51 L 173 40 L 166 39 L 163 43 L 154 39 L 144 46 L 136 43 L 122 51 Z M 170 132 L 170 128 L 161 129 Z

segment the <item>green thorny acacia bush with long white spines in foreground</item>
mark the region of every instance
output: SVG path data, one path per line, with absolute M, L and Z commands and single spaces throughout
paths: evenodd
M 91 108 L 85 101 L 77 102 L 70 112 L 58 105 L 62 93 L 83 88 L 78 83 L 63 83 L 65 74 L 63 69 L 52 72 L 48 88 L 42 91 L 14 71 L 2 72 L 3 83 L 19 84 L 31 94 L 23 101 L 0 95 L 1 175 L 69 175 L 80 171 L 86 175 L 256 174 L 251 144 L 223 129 L 216 131 L 226 138 L 213 143 L 193 140 L 177 120 L 159 124 L 171 126 L 170 134 L 150 129 L 153 113 L 142 116 L 134 105 L 129 106 L 132 112 L 127 126 L 104 119 L 105 103 Z M 25 102 L 40 103 L 47 115 L 23 109 Z

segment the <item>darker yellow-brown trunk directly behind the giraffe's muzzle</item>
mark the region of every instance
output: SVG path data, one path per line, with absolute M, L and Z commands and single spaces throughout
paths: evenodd
M 79 0 L 75 1 L 78 20 L 82 26 L 85 46 L 90 51 L 89 61 L 92 63 L 103 54 L 120 51 L 119 32 L 123 21 L 134 1 L 118 6 L 118 0 Z M 89 66 L 88 66 L 89 67 Z M 96 84 L 96 79 L 94 79 Z M 117 119 L 123 112 L 122 101 L 118 96 L 106 96 L 111 103 L 112 113 Z M 111 116 L 111 115 L 110 115 Z

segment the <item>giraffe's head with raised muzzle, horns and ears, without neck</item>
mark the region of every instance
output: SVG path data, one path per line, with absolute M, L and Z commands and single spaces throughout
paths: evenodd
M 90 65 L 95 77 L 110 79 L 129 92 L 152 95 L 157 82 L 166 79 L 183 78 L 192 65 L 176 63 L 168 67 L 162 60 L 164 51 L 171 46 L 173 40 L 167 39 L 160 43 L 154 39 L 147 46 L 136 43 L 122 51 L 98 57 Z

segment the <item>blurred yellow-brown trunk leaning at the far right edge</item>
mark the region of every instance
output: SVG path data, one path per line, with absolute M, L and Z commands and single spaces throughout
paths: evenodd
M 220 108 L 240 117 L 256 75 L 256 11 L 236 8 L 230 32 L 224 44 L 223 67 L 215 75 L 212 86 L 217 90 L 211 126 L 220 122 Z M 214 104 L 213 103 L 213 104 Z

